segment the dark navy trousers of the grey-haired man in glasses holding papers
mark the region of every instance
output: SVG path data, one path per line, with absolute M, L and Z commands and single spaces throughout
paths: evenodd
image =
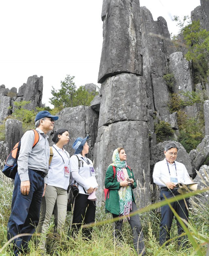
M 160 192 L 160 200 L 164 200 L 164 195 L 167 198 L 179 195 L 179 192 L 176 190 L 172 191 L 162 191 Z M 185 201 L 186 204 L 185 205 Z M 177 212 L 177 214 L 188 221 L 188 198 L 185 198 L 185 201 L 182 199 L 180 201 L 176 201 L 171 203 L 171 206 L 174 208 L 174 210 Z M 161 223 L 160 223 L 160 245 L 163 245 L 166 241 L 170 239 L 170 229 L 173 221 L 173 212 L 171 211 L 169 205 L 164 205 L 161 207 Z M 176 220 L 177 228 L 178 228 L 178 235 L 181 235 L 184 232 L 184 229 L 180 225 L 179 221 Z M 179 246 L 186 246 L 185 243 L 182 242 L 182 240 L 185 240 L 186 236 L 182 236 L 178 238 L 178 245 Z

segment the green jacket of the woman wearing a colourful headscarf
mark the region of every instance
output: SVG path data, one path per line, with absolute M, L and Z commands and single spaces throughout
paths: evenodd
M 132 200 L 135 202 L 133 189 L 137 187 L 136 180 L 134 178 L 134 174 L 132 170 L 130 171 L 128 167 L 126 167 L 128 176 L 130 179 L 134 179 L 134 185 L 131 186 L 131 192 L 132 192 Z M 119 215 L 120 213 L 120 205 L 119 205 L 119 194 L 118 190 L 120 189 L 120 182 L 117 180 L 117 171 L 115 174 L 115 178 L 113 179 L 114 173 L 113 173 L 113 167 L 109 166 L 106 171 L 105 175 L 105 188 L 109 189 L 109 199 L 106 198 L 105 201 L 105 212 L 110 212 L 113 214 Z

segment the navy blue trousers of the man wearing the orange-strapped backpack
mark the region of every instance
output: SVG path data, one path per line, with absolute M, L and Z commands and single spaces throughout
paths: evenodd
M 20 176 L 17 173 L 14 181 L 14 191 L 11 204 L 11 215 L 8 221 L 8 240 L 15 235 L 29 233 L 30 235 L 15 238 L 13 243 L 14 255 L 26 252 L 31 235 L 39 223 L 40 205 L 44 189 L 44 178 L 28 169 L 30 191 L 23 195 L 20 191 Z

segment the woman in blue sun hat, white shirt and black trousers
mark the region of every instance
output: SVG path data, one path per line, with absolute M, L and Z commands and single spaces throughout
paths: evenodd
M 72 220 L 72 235 L 78 231 L 81 224 L 89 224 L 95 221 L 95 201 L 92 201 L 92 195 L 97 190 L 97 182 L 92 161 L 86 157 L 89 146 L 86 138 L 76 138 L 73 143 L 75 155 L 70 158 L 70 173 L 72 183 L 78 184 L 79 194 L 75 198 L 75 208 Z M 78 167 L 80 161 L 80 168 Z M 71 183 L 71 184 L 72 184 Z M 91 195 L 90 195 L 91 194 Z M 90 195 L 90 196 L 89 196 Z M 93 200 L 95 196 L 93 197 Z M 85 239 L 91 239 L 91 228 L 82 230 Z

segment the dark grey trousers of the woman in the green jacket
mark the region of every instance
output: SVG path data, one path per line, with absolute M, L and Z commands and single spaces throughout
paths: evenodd
M 132 201 L 132 210 L 130 210 L 130 213 L 133 211 L 137 210 L 137 206 L 134 201 Z M 113 214 L 113 218 L 119 217 L 119 215 Z M 128 220 L 131 228 L 132 228 L 132 233 L 133 233 L 133 243 L 134 243 L 134 248 L 137 252 L 137 254 L 145 255 L 145 246 L 144 246 L 144 235 L 141 229 L 141 223 L 139 219 L 139 215 L 136 214 L 134 216 L 130 216 L 130 219 Z M 123 220 L 118 220 L 114 222 L 114 236 L 118 239 L 121 238 L 121 232 L 122 232 L 122 224 Z

